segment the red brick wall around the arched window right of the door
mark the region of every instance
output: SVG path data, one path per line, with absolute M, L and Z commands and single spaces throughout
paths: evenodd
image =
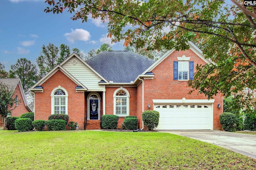
M 114 114 L 113 94 L 120 87 L 106 87 L 106 115 Z M 137 115 L 137 90 L 136 87 L 124 87 L 130 94 L 130 115 Z M 122 128 L 124 117 L 119 117 L 118 129 Z

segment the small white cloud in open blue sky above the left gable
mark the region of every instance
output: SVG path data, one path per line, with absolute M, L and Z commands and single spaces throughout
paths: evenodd
M 84 29 L 71 29 L 71 32 L 65 33 L 64 36 L 71 43 L 74 43 L 75 41 L 89 41 L 91 37 L 90 32 Z

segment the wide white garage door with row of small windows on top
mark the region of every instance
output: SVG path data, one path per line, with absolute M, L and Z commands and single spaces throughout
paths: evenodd
M 160 118 L 156 130 L 212 129 L 212 104 L 154 104 Z

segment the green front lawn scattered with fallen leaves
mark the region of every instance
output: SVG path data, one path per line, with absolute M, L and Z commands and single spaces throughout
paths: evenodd
M 247 156 L 158 132 L 0 131 L 1 170 L 256 169 Z

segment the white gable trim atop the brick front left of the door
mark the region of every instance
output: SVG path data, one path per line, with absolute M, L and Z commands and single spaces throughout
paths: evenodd
M 53 74 L 55 74 L 58 70 L 60 70 L 63 74 L 65 74 L 70 80 L 72 80 L 74 83 L 76 83 L 78 86 L 82 86 L 84 90 L 88 90 L 82 83 L 80 83 L 74 76 L 72 76 L 69 72 L 67 72 L 62 66 L 57 65 L 54 69 L 52 69 L 50 72 L 48 72 L 43 78 L 41 78 L 34 86 L 30 88 L 31 91 L 36 91 L 34 88 L 36 86 L 41 86 L 46 80 L 48 80 L 50 77 L 52 77 Z

